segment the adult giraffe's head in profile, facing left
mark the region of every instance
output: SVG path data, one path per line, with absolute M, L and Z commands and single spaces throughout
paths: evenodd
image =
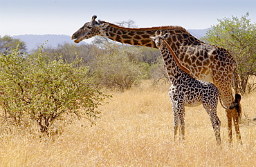
M 86 22 L 82 28 L 77 30 L 72 36 L 71 39 L 75 39 L 75 43 L 79 43 L 83 39 L 89 39 L 96 35 L 104 35 L 104 28 L 107 28 L 109 24 L 100 23 L 100 21 L 95 21 L 97 16 L 93 15 L 90 22 Z

